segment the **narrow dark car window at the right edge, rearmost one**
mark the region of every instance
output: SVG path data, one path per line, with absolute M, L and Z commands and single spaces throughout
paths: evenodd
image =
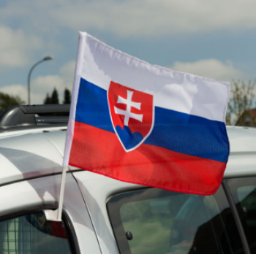
M 227 180 L 251 253 L 256 252 L 256 177 Z

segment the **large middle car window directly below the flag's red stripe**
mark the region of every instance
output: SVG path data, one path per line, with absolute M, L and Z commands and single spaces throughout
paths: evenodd
M 108 213 L 121 254 L 244 253 L 222 187 L 214 196 L 134 190 L 113 196 Z

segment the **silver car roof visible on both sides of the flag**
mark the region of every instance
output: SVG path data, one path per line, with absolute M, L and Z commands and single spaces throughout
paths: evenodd
M 66 130 L 63 126 L 0 133 L 0 185 L 60 174 Z M 256 128 L 227 126 L 227 135 L 230 157 L 224 177 L 256 175 Z

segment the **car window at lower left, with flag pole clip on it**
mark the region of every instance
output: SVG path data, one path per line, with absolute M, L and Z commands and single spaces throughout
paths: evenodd
M 72 253 L 64 223 L 45 219 L 43 212 L 0 222 L 0 253 Z

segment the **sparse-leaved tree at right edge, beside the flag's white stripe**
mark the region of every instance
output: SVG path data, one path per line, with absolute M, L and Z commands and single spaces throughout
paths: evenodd
M 246 110 L 255 108 L 256 80 L 241 80 L 230 83 L 230 102 L 227 104 L 227 125 L 244 126 Z

